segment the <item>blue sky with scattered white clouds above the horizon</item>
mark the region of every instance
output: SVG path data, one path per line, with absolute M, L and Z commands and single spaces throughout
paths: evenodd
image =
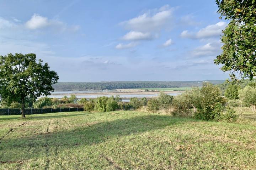
M 59 81 L 214 80 L 214 0 L 0 0 L 0 55 L 36 53 Z

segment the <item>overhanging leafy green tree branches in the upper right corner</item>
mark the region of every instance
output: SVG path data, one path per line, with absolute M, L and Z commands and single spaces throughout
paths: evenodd
M 230 71 L 232 80 L 256 76 L 256 2 L 255 0 L 216 0 L 220 18 L 229 21 L 223 30 L 223 52 L 214 60 Z

